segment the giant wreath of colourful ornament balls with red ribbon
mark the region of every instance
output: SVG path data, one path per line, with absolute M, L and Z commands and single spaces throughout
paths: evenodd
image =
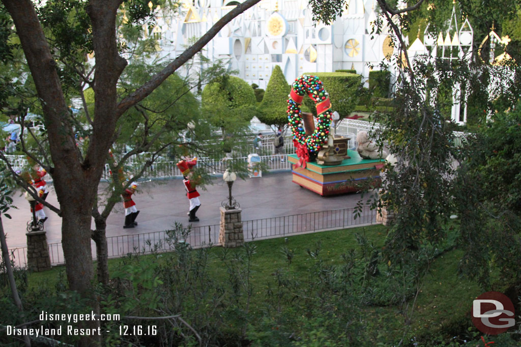
M 317 109 L 317 126 L 311 135 L 306 135 L 300 125 L 302 114 L 300 106 L 305 95 L 315 101 Z M 318 153 L 322 145 L 327 142 L 329 126 L 331 125 L 331 102 L 328 93 L 317 76 L 302 75 L 291 85 L 288 98 L 288 124 L 293 134 L 293 145 L 296 155 L 300 158 L 295 168 L 306 167 L 310 153 Z

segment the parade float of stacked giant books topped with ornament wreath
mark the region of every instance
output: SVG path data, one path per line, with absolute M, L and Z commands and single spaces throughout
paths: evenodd
M 306 95 L 315 102 L 316 124 L 312 113 L 301 111 Z M 334 134 L 331 102 L 317 76 L 303 75 L 295 80 L 287 113 L 296 148 L 296 154 L 288 156 L 293 183 L 321 196 L 380 186 L 385 160 L 362 158 L 356 150 L 348 149 L 350 138 Z

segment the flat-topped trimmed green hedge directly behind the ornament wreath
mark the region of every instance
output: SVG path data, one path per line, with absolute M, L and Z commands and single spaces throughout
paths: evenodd
M 305 75 L 318 76 L 329 94 L 333 111 L 337 111 L 340 117 L 348 117 L 355 109 L 358 102 L 357 89 L 362 81 L 362 76 L 346 72 L 305 72 Z M 308 97 L 304 98 L 304 104 L 316 114 L 315 102 Z

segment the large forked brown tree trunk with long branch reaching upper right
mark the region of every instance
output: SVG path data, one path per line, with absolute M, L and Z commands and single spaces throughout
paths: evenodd
M 100 182 L 108 149 L 114 141 L 118 118 L 137 104 L 176 71 L 184 62 L 199 52 L 226 23 L 258 3 L 246 0 L 217 21 L 196 44 L 172 61 L 150 82 L 119 103 L 116 89 L 118 78 L 127 62 L 118 54 L 116 42 L 116 14 L 122 0 L 90 0 L 86 11 L 92 23 L 93 48 L 96 57 L 94 76 L 94 122 L 89 148 L 85 158 L 76 147 L 70 110 L 61 88 L 56 60 L 51 54 L 44 31 L 31 0 L 1 0 L 13 18 L 27 65 L 42 100 L 43 116 L 54 168 L 49 174 L 54 179 L 56 195 L 62 211 L 62 245 L 65 255 L 69 288 L 77 290 L 92 301 L 97 311 L 92 290 L 91 215 L 92 205 Z M 106 216 L 105 216 L 106 218 Z M 103 235 L 101 234 L 103 230 Z M 106 254 L 105 228 L 97 238 L 101 254 Z M 100 262 L 106 266 L 106 259 Z M 106 272 L 106 268 L 104 269 Z M 105 275 L 103 275 L 105 276 Z M 108 276 L 108 274 L 106 275 Z M 94 321 L 95 324 L 96 321 Z M 93 324 L 91 321 L 88 324 Z M 89 327 L 88 324 L 85 326 Z M 95 326 L 94 326 L 95 327 Z M 79 345 L 94 345 L 92 337 L 82 338 Z

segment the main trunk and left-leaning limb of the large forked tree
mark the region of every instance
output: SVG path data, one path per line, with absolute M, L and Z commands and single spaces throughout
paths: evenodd
M 98 304 L 92 290 L 92 255 L 90 246 L 92 203 L 100 182 L 103 165 L 82 163 L 72 130 L 70 111 L 65 101 L 56 61 L 30 0 L 2 0 L 13 18 L 23 53 L 42 100 L 42 109 L 54 168 L 56 195 L 63 212 L 61 240 L 64 249 L 67 280 L 70 290 L 89 299 L 95 313 Z M 97 99 L 96 99 L 97 101 Z M 103 114 L 103 113 L 101 113 Z M 108 143 L 109 139 L 106 140 Z M 106 145 L 104 160 L 108 151 Z M 88 320 L 78 324 L 97 328 L 99 322 Z M 100 336 L 83 336 L 79 346 L 100 344 Z

